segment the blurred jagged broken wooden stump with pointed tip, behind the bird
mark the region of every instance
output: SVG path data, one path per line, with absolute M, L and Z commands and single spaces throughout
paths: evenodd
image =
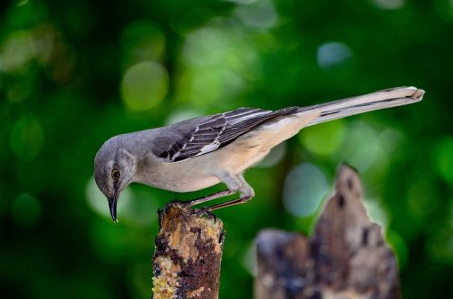
M 362 205 L 361 181 L 343 165 L 312 237 L 257 237 L 255 298 L 400 298 L 395 258 Z

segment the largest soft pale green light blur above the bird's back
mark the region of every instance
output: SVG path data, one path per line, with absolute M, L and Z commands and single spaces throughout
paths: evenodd
M 261 77 L 254 41 L 238 33 L 236 19 L 213 18 L 188 34 L 181 55 L 184 71 L 176 84 L 179 102 L 204 108 L 226 104 L 250 86 L 246 79 Z

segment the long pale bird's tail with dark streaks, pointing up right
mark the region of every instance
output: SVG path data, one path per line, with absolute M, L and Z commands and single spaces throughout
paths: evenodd
M 415 87 L 396 87 L 380 92 L 372 92 L 365 95 L 331 101 L 320 105 L 300 108 L 300 112 L 321 111 L 321 114 L 306 126 L 324 121 L 333 121 L 346 116 L 407 105 L 421 101 L 425 91 Z

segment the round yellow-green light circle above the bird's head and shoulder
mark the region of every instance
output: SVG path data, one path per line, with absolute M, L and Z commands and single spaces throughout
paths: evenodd
M 122 100 L 130 111 L 146 111 L 164 99 L 169 89 L 169 74 L 159 63 L 143 62 L 132 66 L 121 83 Z

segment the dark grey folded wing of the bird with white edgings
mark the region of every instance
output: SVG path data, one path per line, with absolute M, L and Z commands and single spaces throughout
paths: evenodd
M 266 121 L 292 114 L 297 109 L 298 107 L 290 107 L 278 111 L 268 111 L 239 108 L 235 111 L 201 118 L 200 121 L 182 121 L 170 126 L 167 131 L 168 136 L 178 138 L 163 137 L 160 141 L 164 141 L 167 145 L 159 146 L 159 149 L 153 150 L 153 153 L 160 159 L 169 162 L 204 155 L 226 146 Z

